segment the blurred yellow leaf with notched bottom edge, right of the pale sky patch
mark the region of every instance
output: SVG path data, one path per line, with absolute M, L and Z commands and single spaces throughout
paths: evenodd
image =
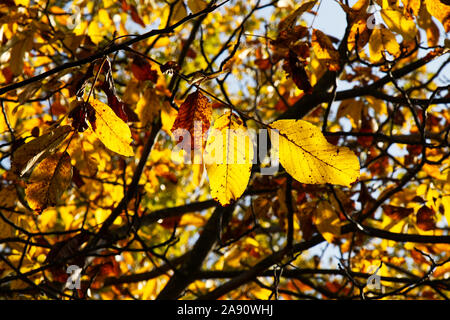
M 381 62 L 385 59 L 386 52 L 394 57 L 398 57 L 400 55 L 400 45 L 390 30 L 377 28 L 373 30 L 369 40 L 370 61 L 373 63 Z

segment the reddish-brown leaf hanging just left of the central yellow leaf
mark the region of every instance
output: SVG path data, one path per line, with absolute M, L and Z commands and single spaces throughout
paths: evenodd
M 191 150 L 203 148 L 205 133 L 211 125 L 211 114 L 212 107 L 209 99 L 200 90 L 197 90 L 189 94 L 181 104 L 172 132 L 175 132 L 177 129 L 187 130 L 191 140 L 183 143 L 190 143 Z M 180 137 L 180 140 L 182 138 Z

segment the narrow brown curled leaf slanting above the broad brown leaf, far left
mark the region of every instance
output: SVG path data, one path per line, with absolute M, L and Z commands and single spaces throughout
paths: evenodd
M 20 176 L 27 174 L 36 164 L 56 151 L 72 131 L 71 126 L 52 128 L 46 134 L 21 145 L 13 153 L 12 171 Z

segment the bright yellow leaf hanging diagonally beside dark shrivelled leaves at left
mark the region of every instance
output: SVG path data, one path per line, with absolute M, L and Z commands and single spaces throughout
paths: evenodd
M 91 127 L 105 147 L 126 157 L 133 156 L 128 125 L 103 102 L 93 99 L 90 105 L 95 110 L 95 121 L 91 123 Z

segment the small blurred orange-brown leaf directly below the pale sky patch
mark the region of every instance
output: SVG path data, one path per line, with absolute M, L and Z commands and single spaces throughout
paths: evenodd
M 339 52 L 334 48 L 330 38 L 325 33 L 314 29 L 311 43 L 317 59 L 322 60 L 328 70 L 338 71 L 340 69 Z

